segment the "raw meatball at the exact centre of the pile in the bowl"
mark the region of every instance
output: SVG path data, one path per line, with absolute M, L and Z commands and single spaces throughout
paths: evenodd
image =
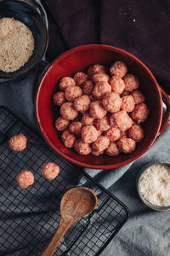
M 107 111 L 103 108 L 102 103 L 100 101 L 92 102 L 90 104 L 90 115 L 94 119 L 103 119 L 106 115 Z

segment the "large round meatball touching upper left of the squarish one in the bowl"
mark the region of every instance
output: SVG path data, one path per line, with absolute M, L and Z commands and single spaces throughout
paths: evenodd
M 122 99 L 116 92 L 110 92 L 105 94 L 102 105 L 105 108 L 105 110 L 115 113 L 120 110 L 122 106 Z

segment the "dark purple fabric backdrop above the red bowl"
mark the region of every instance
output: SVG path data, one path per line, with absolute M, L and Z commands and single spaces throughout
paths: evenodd
M 82 44 L 110 44 L 139 57 L 170 93 L 170 1 L 42 0 L 48 61 Z

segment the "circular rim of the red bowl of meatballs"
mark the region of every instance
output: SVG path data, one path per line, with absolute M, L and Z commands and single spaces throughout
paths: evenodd
M 54 146 L 53 143 L 51 143 L 51 141 L 48 139 L 48 135 L 46 134 L 46 132 L 44 131 L 43 127 L 42 127 L 42 123 L 41 120 L 39 118 L 39 108 L 38 108 L 38 100 L 39 100 L 39 92 L 41 90 L 41 86 L 42 86 L 42 82 L 43 79 L 48 75 L 49 70 L 54 66 L 55 62 L 59 62 L 60 59 L 62 59 L 65 56 L 68 55 L 72 55 L 73 53 L 79 51 L 79 50 L 84 50 L 84 49 L 110 49 L 110 50 L 114 50 L 118 53 L 124 54 L 124 55 L 128 55 L 130 58 L 132 58 L 134 61 L 139 62 L 139 65 L 144 67 L 144 69 L 146 70 L 146 72 L 150 75 L 150 78 L 153 80 L 154 84 L 156 85 L 156 89 L 158 91 L 158 94 L 160 96 L 160 104 L 161 104 L 161 115 L 160 115 L 160 121 L 159 121 L 159 125 L 157 125 L 157 129 L 156 129 L 156 136 L 150 141 L 150 144 L 148 145 L 147 148 L 144 148 L 137 156 L 133 156 L 130 159 L 127 160 L 123 160 L 123 162 L 121 164 L 111 164 L 111 165 L 93 165 L 93 164 L 88 164 L 88 163 L 84 163 L 81 162 L 79 160 L 73 159 L 71 157 L 69 157 L 66 154 L 63 154 L 61 151 L 59 151 L 58 148 L 56 148 Z M 134 160 L 139 159 L 140 156 L 142 156 L 146 151 L 148 151 L 148 149 L 150 149 L 150 147 L 153 145 L 153 143 L 156 141 L 156 137 L 158 136 L 158 132 L 160 131 L 160 127 L 161 127 L 161 119 L 162 119 L 162 98 L 161 98 L 161 91 L 159 90 L 158 84 L 156 82 L 156 79 L 154 77 L 154 75 L 150 72 L 150 69 L 148 67 L 146 67 L 144 65 L 144 63 L 142 61 L 140 61 L 137 57 L 135 57 L 134 55 L 128 53 L 127 51 L 120 49 L 120 48 L 116 48 L 115 46 L 111 46 L 111 45 L 106 45 L 106 44 L 85 44 L 85 45 L 81 45 L 81 46 L 77 46 L 75 48 L 69 49 L 67 51 L 65 51 L 63 54 L 59 55 L 56 59 L 54 59 L 54 61 L 52 61 L 52 63 L 48 66 L 48 68 L 44 71 L 44 73 L 42 73 L 42 77 L 38 83 L 37 86 L 37 91 L 36 91 L 36 96 L 35 96 L 35 113 L 36 113 L 36 119 L 37 119 L 37 125 L 42 133 L 42 137 L 45 138 L 46 142 L 48 143 L 48 145 L 54 149 L 54 151 L 59 154 L 60 156 L 62 156 L 65 160 L 70 161 L 72 164 L 77 165 L 77 166 L 81 166 L 84 168 L 89 168 L 89 169 L 104 169 L 104 170 L 111 170 L 111 169 L 115 169 L 121 166 L 126 166 L 127 164 L 133 162 Z

